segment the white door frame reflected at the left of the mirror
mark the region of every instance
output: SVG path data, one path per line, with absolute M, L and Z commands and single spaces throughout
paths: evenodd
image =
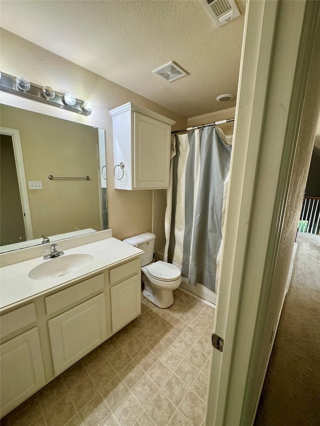
M 27 240 L 33 239 L 33 230 L 31 222 L 31 214 L 29 207 L 29 198 L 26 187 L 25 173 L 24 173 L 24 164 L 20 140 L 20 132 L 18 129 L 10 129 L 8 127 L 0 127 L 0 133 L 3 135 L 11 136 L 14 152 L 14 161 L 16 174 L 18 178 L 21 206 L 22 206 L 22 215 L 25 228 L 25 236 Z M 24 214 L 23 214 L 24 213 Z

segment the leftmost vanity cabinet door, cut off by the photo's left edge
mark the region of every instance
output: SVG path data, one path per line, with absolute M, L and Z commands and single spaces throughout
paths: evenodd
M 37 327 L 1 345 L 1 416 L 45 384 Z

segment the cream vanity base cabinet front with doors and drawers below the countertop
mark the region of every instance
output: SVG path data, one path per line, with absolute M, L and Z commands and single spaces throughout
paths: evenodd
M 140 291 L 135 257 L 2 313 L 1 417 L 136 318 Z

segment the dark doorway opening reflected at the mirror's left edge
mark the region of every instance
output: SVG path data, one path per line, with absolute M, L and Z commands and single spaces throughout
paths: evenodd
M 25 241 L 26 237 L 12 138 L 1 135 L 0 139 L 0 236 L 1 245 L 4 245 Z

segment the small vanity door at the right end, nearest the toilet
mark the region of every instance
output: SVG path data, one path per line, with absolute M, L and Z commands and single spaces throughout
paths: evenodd
M 111 287 L 112 333 L 141 314 L 140 274 Z

